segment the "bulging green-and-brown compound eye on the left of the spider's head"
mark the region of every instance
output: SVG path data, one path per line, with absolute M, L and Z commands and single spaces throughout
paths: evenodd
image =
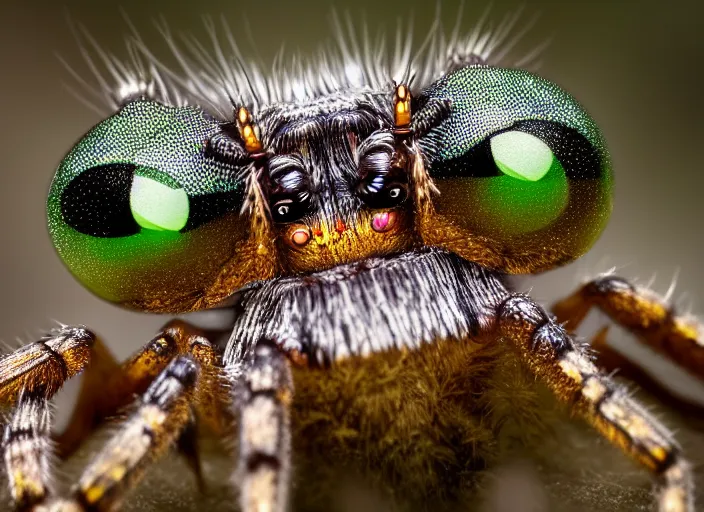
M 203 149 L 219 129 L 199 109 L 139 100 L 66 156 L 49 229 L 87 288 L 126 306 L 169 309 L 213 282 L 246 236 L 238 169 Z

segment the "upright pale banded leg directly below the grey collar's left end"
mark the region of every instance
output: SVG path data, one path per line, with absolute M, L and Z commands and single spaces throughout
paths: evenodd
M 238 473 L 242 512 L 286 509 L 292 396 L 293 381 L 286 356 L 273 342 L 259 342 L 240 394 Z

